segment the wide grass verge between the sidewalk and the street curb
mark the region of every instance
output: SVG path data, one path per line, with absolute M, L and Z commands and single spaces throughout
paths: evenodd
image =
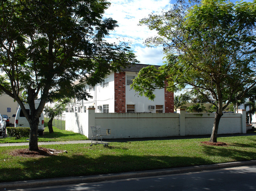
M 256 159 L 256 135 L 219 137 L 228 146 L 208 146 L 202 139 L 45 145 L 67 150 L 57 156 L 26 158 L 10 152 L 27 146 L 0 147 L 0 182 L 143 171 Z

